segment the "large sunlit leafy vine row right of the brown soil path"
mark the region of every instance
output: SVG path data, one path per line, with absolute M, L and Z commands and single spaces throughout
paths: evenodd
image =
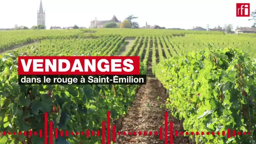
M 184 52 L 165 59 L 155 68 L 156 77 L 169 91 L 167 107 L 189 132 L 251 131 L 226 136 L 195 136 L 203 144 L 246 144 L 256 139 L 256 65 L 236 48 Z

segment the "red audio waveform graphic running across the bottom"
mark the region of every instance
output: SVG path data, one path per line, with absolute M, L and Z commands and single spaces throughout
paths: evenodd
M 44 139 L 45 139 L 45 144 L 48 144 L 48 114 L 47 112 L 45 112 L 45 115 L 44 115 L 44 119 L 45 119 L 45 124 L 44 124 Z M 173 122 L 170 121 L 170 144 L 173 144 Z M 55 132 L 54 132 L 54 136 L 55 136 L 55 139 L 58 139 L 58 128 L 55 128 Z M 107 144 L 110 144 L 111 143 L 111 128 L 110 128 L 110 112 L 108 111 L 107 112 Z M 215 132 L 206 132 L 207 135 L 209 134 L 212 134 L 213 136 L 215 135 Z M 16 132 L 13 132 L 13 135 L 16 135 L 17 133 Z M 22 133 L 21 132 L 18 132 L 19 135 L 21 135 Z M 27 136 L 27 131 L 24 131 L 23 133 L 25 136 Z M 53 121 L 50 121 L 50 131 L 49 131 L 49 134 L 50 134 L 50 137 L 49 137 L 49 142 L 50 144 L 53 144 Z M 74 135 L 74 132 L 71 131 L 70 132 L 71 135 Z M 81 133 L 79 132 L 76 132 L 75 133 L 76 135 L 84 135 L 84 131 L 82 131 Z M 116 134 L 117 135 L 120 135 L 121 132 L 117 132 L 116 133 L 116 128 L 115 128 L 115 125 L 112 125 L 112 141 L 115 142 L 116 140 Z M 141 131 L 138 132 L 139 136 L 141 136 Z M 144 131 L 144 136 L 147 136 L 147 131 Z M 154 135 L 157 136 L 158 132 L 155 131 L 154 132 Z M 194 132 L 185 132 L 186 135 L 194 135 Z M 204 135 L 205 133 L 204 132 L 201 132 L 201 135 Z M 217 135 L 220 135 L 220 132 L 218 131 L 216 133 Z M 225 136 L 225 131 L 222 131 L 222 136 Z M 243 135 L 245 135 L 246 132 L 243 132 Z M 250 131 L 247 132 L 247 134 L 250 135 Z M 6 135 L 6 132 L 3 131 L 3 136 Z M 11 132 L 8 132 L 8 135 L 11 135 Z M 37 136 L 37 131 L 34 131 L 34 135 Z M 62 137 L 64 135 L 64 131 L 60 131 L 60 136 Z M 65 131 L 65 136 L 67 137 L 69 135 L 69 131 Z M 125 131 L 123 131 L 123 135 L 126 135 Z M 131 135 L 131 131 L 128 132 L 128 135 Z M 136 135 L 136 132 L 133 132 L 133 135 Z M 149 131 L 148 133 L 149 136 L 152 136 L 152 131 Z M 179 136 L 179 131 L 175 131 L 174 132 L 174 135 L 177 137 Z M 197 131 L 196 132 L 196 135 L 200 135 L 200 133 Z M 233 130 L 232 131 L 232 136 L 235 137 L 236 135 L 240 136 L 241 135 L 241 132 L 240 131 L 235 131 Z M 29 136 L 32 136 L 32 131 L 29 131 Z M 86 137 L 89 137 L 90 136 L 90 131 L 89 130 L 86 130 Z M 91 131 L 91 136 L 95 136 L 95 131 Z M 96 136 L 100 136 L 100 131 L 96 131 Z M 165 112 L 165 131 L 164 131 L 164 136 L 165 136 L 165 144 L 168 143 L 168 113 Z M 180 132 L 180 136 L 184 136 L 184 132 Z M 39 130 L 39 137 L 42 138 L 43 137 L 43 132 L 42 130 Z M 230 129 L 227 129 L 227 138 L 230 138 L 231 137 L 231 131 Z M 102 121 L 102 129 L 101 129 L 101 139 L 102 139 L 102 144 L 105 144 L 105 121 Z M 163 128 L 160 127 L 159 128 L 159 139 L 160 140 L 163 140 Z

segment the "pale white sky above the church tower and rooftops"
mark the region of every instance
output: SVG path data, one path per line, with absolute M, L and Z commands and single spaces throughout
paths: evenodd
M 236 3 L 250 3 L 256 10 L 256 0 L 42 0 L 45 25 L 89 27 L 90 21 L 110 20 L 113 15 L 123 21 L 129 15 L 140 27 L 159 25 L 166 28 L 224 27 L 224 24 L 251 27 L 248 17 L 236 17 Z M 37 25 L 40 0 L 0 0 L 0 28 Z

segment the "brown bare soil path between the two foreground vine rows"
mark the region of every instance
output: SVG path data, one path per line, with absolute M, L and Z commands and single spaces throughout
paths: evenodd
M 157 100 L 157 97 L 161 100 Z M 136 94 L 135 100 L 131 105 L 128 114 L 123 118 L 121 124 L 121 135 L 117 135 L 117 144 L 164 144 L 164 119 L 165 112 L 168 112 L 168 123 L 173 121 L 173 130 L 179 130 L 180 121 L 173 117 L 165 108 L 167 96 L 165 88 L 155 78 L 148 78 L 146 85 L 141 85 L 141 88 Z M 161 105 L 163 108 L 161 108 Z M 163 140 L 159 138 L 159 128 L 163 128 Z M 170 125 L 168 125 L 169 131 Z M 125 135 L 123 135 L 125 131 Z M 141 131 L 141 136 L 139 136 Z M 144 131 L 147 131 L 147 136 L 144 136 Z M 149 131 L 152 135 L 149 136 Z M 157 136 L 154 132 L 157 131 Z M 128 135 L 131 132 L 131 135 Z M 136 135 L 133 135 L 136 132 Z M 168 132 L 168 139 L 170 134 Z M 170 143 L 170 141 L 168 141 Z M 173 144 L 187 144 L 188 137 L 173 136 Z

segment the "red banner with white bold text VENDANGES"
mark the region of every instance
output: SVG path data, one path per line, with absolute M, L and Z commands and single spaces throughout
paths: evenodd
M 19 56 L 19 75 L 139 75 L 139 56 Z

